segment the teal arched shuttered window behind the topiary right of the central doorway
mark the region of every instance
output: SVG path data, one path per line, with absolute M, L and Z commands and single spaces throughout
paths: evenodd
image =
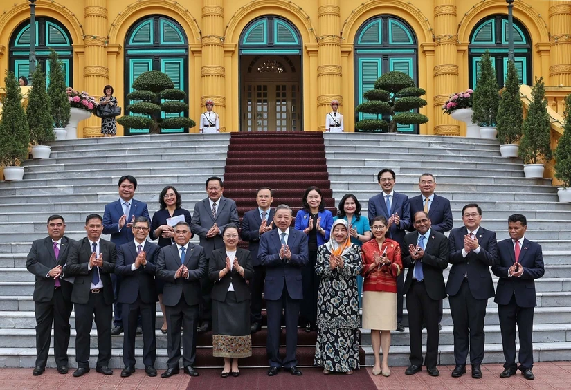
M 418 82 L 418 47 L 415 32 L 406 21 L 380 15 L 365 21 L 355 38 L 355 102 L 363 102 L 363 93 L 374 88 L 383 73 L 401 71 Z M 377 115 L 355 113 L 355 121 Z M 385 118 L 390 120 L 390 118 Z M 399 125 L 397 131 L 417 132 L 417 126 Z

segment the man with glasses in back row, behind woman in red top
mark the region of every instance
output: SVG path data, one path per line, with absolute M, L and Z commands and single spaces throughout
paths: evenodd
M 397 176 L 392 169 L 385 168 L 379 171 L 377 181 L 383 192 L 369 199 L 367 214 L 369 221 L 372 221 L 375 216 L 384 216 L 388 221 L 390 238 L 397 241 L 401 245 L 401 251 L 406 253 L 404 236 L 410 226 L 410 204 L 408 196 L 393 190 L 396 179 Z M 402 326 L 403 281 L 404 273 L 401 273 L 397 278 L 397 331 L 399 332 L 404 332 L 404 326 Z

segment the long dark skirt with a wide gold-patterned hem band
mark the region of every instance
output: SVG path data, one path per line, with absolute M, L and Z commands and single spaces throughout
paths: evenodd
M 215 358 L 251 356 L 250 299 L 238 302 L 233 291 L 228 291 L 224 302 L 212 299 L 212 333 Z

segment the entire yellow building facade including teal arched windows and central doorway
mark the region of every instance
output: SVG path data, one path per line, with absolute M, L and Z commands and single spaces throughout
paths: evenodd
M 363 91 L 402 70 L 426 89 L 430 121 L 400 130 L 462 136 L 442 104 L 473 86 L 483 50 L 500 82 L 507 60 L 505 0 L 38 0 L 36 18 L 38 59 L 59 47 L 74 89 L 111 84 L 125 110 L 136 75 L 165 71 L 188 93 L 181 115 L 198 122 L 212 99 L 221 131 L 323 131 L 333 99 L 353 131 Z M 29 20 L 28 1 L 0 4 L 2 75 L 26 71 Z M 514 21 L 521 82 L 568 90 L 571 2 L 516 0 Z M 100 136 L 98 118 L 78 136 Z

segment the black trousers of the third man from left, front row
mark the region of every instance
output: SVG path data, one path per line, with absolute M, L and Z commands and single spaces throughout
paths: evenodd
M 143 328 L 143 364 L 154 366 L 156 360 L 156 336 L 154 324 L 156 303 L 145 304 L 141 295 L 132 304 L 123 306 L 123 363 L 126 367 L 135 366 L 135 335 L 139 314 Z

